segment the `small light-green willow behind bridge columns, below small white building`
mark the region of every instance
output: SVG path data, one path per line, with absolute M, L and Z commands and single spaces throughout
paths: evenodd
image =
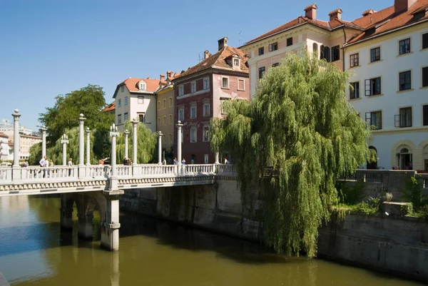
M 133 128 L 131 121 L 125 121 L 123 124 L 123 130 L 128 130 L 128 157 L 133 158 Z M 153 133 L 150 128 L 148 128 L 143 123 L 138 123 L 137 125 L 137 160 L 138 163 L 148 163 L 153 160 L 155 152 L 156 152 L 156 142 L 157 135 Z M 123 158 L 125 158 L 125 136 L 123 133 L 117 138 L 116 141 L 116 160 L 118 163 L 122 163 Z M 133 162 L 136 163 L 136 162 Z

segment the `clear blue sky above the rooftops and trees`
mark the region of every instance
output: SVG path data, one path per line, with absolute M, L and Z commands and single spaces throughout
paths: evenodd
M 0 119 L 36 130 L 39 113 L 55 96 L 88 83 L 113 101 L 128 77 L 159 78 L 198 63 L 198 54 L 260 36 L 304 14 L 307 1 L 179 0 L 0 0 Z M 161 4 L 163 3 L 163 4 Z M 342 19 L 376 11 L 393 0 L 319 0 L 317 18 L 342 8 Z

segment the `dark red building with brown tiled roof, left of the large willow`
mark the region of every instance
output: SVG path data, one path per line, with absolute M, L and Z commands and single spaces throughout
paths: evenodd
M 186 163 L 215 163 L 210 148 L 210 119 L 223 116 L 223 101 L 250 98 L 246 53 L 228 46 L 227 37 L 220 39 L 217 53 L 205 51 L 203 61 L 174 78 L 173 83 L 174 122 L 183 123 L 183 158 Z M 176 136 L 176 128 L 174 132 Z

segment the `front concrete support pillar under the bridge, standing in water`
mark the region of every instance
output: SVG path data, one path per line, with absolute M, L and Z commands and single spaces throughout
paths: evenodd
M 101 247 L 119 250 L 119 197 L 123 190 L 104 191 L 106 197 L 106 220 L 101 224 Z

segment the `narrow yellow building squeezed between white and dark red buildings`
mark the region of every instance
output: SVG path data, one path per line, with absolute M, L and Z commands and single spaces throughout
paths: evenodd
M 167 154 L 173 153 L 174 143 L 174 128 L 175 128 L 175 96 L 173 79 L 179 76 L 180 73 L 173 73 L 172 71 L 166 72 L 165 75 L 161 74 L 161 81 L 159 82 L 158 91 L 156 91 L 156 111 L 157 111 L 157 123 L 156 131 L 163 133 L 162 138 L 162 149 Z M 168 157 L 168 160 L 172 162 L 173 158 Z

